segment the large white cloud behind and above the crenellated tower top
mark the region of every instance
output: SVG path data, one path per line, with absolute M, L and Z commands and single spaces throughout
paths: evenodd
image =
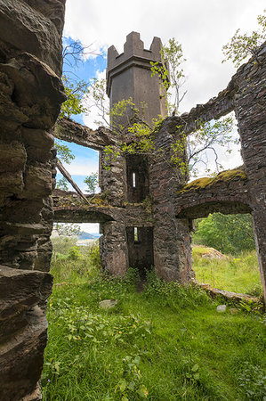
M 234 69 L 222 64 L 222 45 L 234 32 L 256 29 L 263 0 L 68 0 L 65 34 L 92 44 L 92 50 L 115 45 L 123 51 L 132 30 L 146 48 L 154 36 L 165 43 L 175 37 L 187 58 L 187 89 L 182 111 L 206 102 L 229 82 Z

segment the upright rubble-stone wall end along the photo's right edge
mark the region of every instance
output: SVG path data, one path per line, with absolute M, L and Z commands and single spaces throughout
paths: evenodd
M 266 303 L 266 58 L 265 46 L 259 62 L 250 61 L 236 75 L 236 116 L 246 176 L 251 185 L 254 235 Z

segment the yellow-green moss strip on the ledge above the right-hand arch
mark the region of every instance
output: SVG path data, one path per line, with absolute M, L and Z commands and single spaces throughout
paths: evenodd
M 195 191 L 199 189 L 204 189 L 210 187 L 214 184 L 228 183 L 230 181 L 246 181 L 247 176 L 244 170 L 241 168 L 234 168 L 232 170 L 225 170 L 214 177 L 198 178 L 191 183 L 185 185 L 181 191 L 178 193 Z

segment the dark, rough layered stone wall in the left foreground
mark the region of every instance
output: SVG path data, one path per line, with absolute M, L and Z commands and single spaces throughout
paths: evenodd
M 0 399 L 39 399 L 64 0 L 0 0 Z

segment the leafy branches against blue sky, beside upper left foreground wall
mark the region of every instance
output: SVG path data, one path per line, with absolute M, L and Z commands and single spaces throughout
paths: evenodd
M 61 105 L 60 119 L 64 117 L 70 119 L 72 115 L 84 113 L 87 110 L 84 105 L 84 97 L 88 92 L 88 84 L 83 80 L 73 81 L 65 75 L 62 76 L 62 81 L 67 100 Z

